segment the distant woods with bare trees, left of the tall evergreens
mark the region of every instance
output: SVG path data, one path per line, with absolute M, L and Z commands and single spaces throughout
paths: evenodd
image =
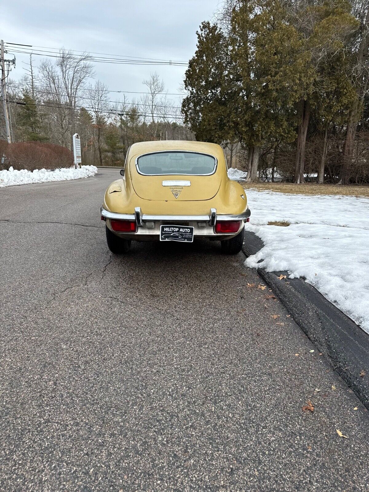
M 194 138 L 184 127 L 179 103 L 168 98 L 156 72 L 143 81 L 142 96 L 130 101 L 125 97 L 111 100 L 109 88 L 99 80 L 92 84 L 93 77 L 87 53 L 76 56 L 62 49 L 55 62 L 43 60 L 37 68 L 30 56 L 27 75 L 19 82 L 7 83 L 15 143 L 7 147 L 3 142 L 1 148 L 7 148 L 9 155 L 19 155 L 24 149 L 30 156 L 32 150 L 39 161 L 39 155 L 44 154 L 42 146 L 17 143 L 48 142 L 71 150 L 72 135 L 77 132 L 84 164 L 121 166 L 128 147 L 135 142 Z M 3 120 L 0 125 L 0 138 L 5 139 Z

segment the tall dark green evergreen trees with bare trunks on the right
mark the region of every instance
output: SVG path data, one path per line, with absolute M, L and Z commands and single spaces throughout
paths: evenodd
M 247 181 L 368 183 L 368 3 L 226 0 L 197 32 L 184 123 Z

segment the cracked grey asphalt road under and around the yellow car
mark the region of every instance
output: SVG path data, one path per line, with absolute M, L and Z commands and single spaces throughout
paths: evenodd
M 368 412 L 243 253 L 110 255 L 116 176 L 0 189 L 0 490 L 368 490 Z

